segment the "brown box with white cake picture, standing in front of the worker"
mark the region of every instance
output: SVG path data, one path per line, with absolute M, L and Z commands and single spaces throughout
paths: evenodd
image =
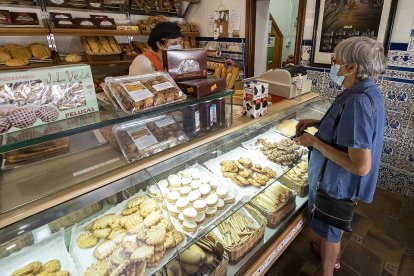
M 184 49 L 163 51 L 164 69 L 173 80 L 194 80 L 207 77 L 207 50 Z

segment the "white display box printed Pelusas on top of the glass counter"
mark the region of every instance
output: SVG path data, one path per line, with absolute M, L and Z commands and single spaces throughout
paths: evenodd
M 0 133 L 98 111 L 89 65 L 0 73 Z

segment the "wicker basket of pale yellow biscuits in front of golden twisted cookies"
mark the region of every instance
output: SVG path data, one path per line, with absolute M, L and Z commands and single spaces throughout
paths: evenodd
M 295 209 L 295 194 L 276 182 L 253 198 L 251 204 L 267 219 L 267 226 L 273 228 Z

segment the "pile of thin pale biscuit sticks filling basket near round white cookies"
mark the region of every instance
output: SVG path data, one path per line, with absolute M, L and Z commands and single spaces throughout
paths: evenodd
M 221 241 L 228 247 L 243 245 L 257 229 L 254 221 L 242 211 L 237 211 L 218 226 Z

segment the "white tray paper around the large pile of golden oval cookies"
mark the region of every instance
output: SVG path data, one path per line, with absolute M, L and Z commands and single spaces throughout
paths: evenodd
M 126 199 L 126 200 L 124 200 L 124 201 L 120 202 L 118 205 L 115 205 L 114 207 L 112 207 L 112 208 L 108 209 L 106 212 L 104 212 L 104 213 L 100 214 L 99 216 L 94 217 L 94 218 L 92 218 L 91 220 L 88 220 L 88 221 L 86 221 L 86 222 L 82 223 L 81 225 L 75 225 L 75 226 L 74 226 L 73 231 L 72 231 L 72 236 L 71 236 L 71 239 L 70 239 L 70 247 L 69 247 L 69 252 L 70 252 L 70 254 L 72 255 L 72 257 L 73 257 L 73 259 L 74 259 L 74 261 L 75 261 L 75 264 L 77 265 L 77 267 L 78 267 L 78 269 L 79 269 L 79 271 L 80 271 L 81 273 L 80 273 L 80 274 L 73 274 L 73 275 L 83 275 L 83 273 L 86 271 L 86 269 L 87 269 L 90 265 L 92 265 L 93 263 L 95 263 L 95 262 L 97 262 L 97 261 L 98 261 L 98 260 L 94 257 L 94 255 L 93 255 L 93 251 L 95 250 L 96 246 L 97 246 L 98 244 L 100 244 L 100 242 L 101 242 L 101 240 L 102 240 L 102 239 L 100 239 L 100 240 L 99 240 L 99 242 L 97 243 L 97 245 L 96 245 L 96 246 L 94 246 L 94 247 L 92 247 L 92 248 L 85 248 L 85 249 L 83 249 L 83 248 L 79 248 L 79 247 L 78 247 L 78 244 L 77 244 L 77 242 L 76 242 L 76 238 L 77 238 L 80 234 L 82 234 L 82 233 L 84 233 L 84 232 L 85 232 L 85 231 L 83 230 L 83 229 L 85 229 L 85 226 L 86 226 L 86 225 L 88 225 L 91 221 L 93 221 L 93 220 L 95 220 L 95 219 L 97 219 L 97 218 L 100 218 L 100 217 L 102 217 L 102 216 L 104 216 L 104 215 L 111 214 L 111 213 L 114 213 L 114 214 L 120 214 L 120 213 L 121 213 L 121 211 L 122 211 L 123 209 L 125 209 L 125 208 L 126 208 L 126 204 L 127 204 L 127 202 L 128 202 L 129 200 L 131 200 L 131 199 L 133 199 L 133 198 L 135 198 L 135 197 L 139 196 L 139 195 L 143 195 L 143 196 L 145 196 L 145 197 L 149 197 L 149 196 L 148 196 L 145 192 L 143 192 L 142 190 L 140 190 L 140 191 L 139 191 L 138 193 L 136 193 L 135 195 L 133 195 L 133 196 L 131 196 L 130 198 L 128 198 L 128 199 Z M 167 219 L 170 219 L 170 218 L 167 216 Z M 177 230 L 178 230 L 178 229 L 177 229 Z M 133 237 L 133 236 L 129 236 L 129 237 Z M 125 239 L 128 239 L 128 236 L 127 236 L 127 238 L 125 238 Z M 183 240 L 180 244 L 178 244 L 178 245 L 175 247 L 175 249 L 180 248 L 180 247 L 182 247 L 182 246 L 183 246 L 183 245 L 185 245 L 185 244 L 186 244 L 186 238 L 185 238 L 185 235 L 184 235 L 184 240 Z M 177 253 L 177 251 L 176 251 L 176 250 L 174 250 L 174 248 L 167 250 L 167 251 L 165 252 L 165 254 L 164 254 L 164 257 L 162 258 L 162 260 L 161 260 L 161 262 L 160 262 L 159 267 L 163 267 L 165 264 L 167 264 L 167 263 L 170 261 L 170 259 L 172 259 L 172 258 L 176 255 L 176 253 Z M 159 269 L 158 267 L 151 267 L 151 268 L 147 268 L 147 269 L 145 270 L 145 274 L 144 274 L 144 275 L 152 275 L 152 274 L 154 274 L 154 273 L 155 273 L 158 269 Z

